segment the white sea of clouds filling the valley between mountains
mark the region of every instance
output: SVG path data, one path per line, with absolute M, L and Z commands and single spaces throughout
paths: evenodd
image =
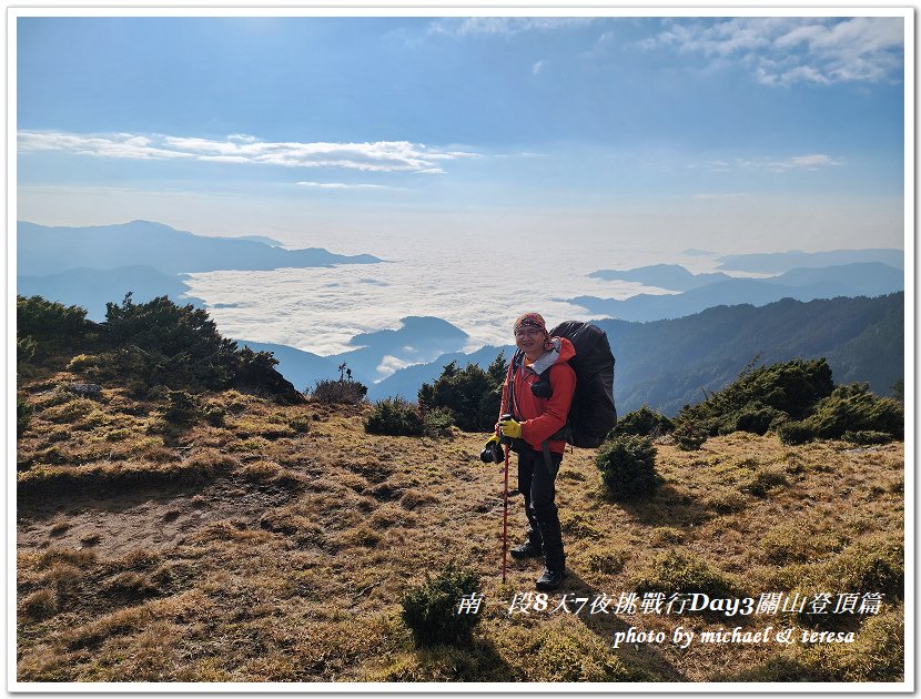
M 318 242 L 285 240 L 285 244 L 316 246 Z M 614 244 L 577 237 L 340 236 L 322 246 L 337 253 L 366 252 L 385 262 L 200 273 L 186 283 L 190 294 L 205 301 L 220 331 L 231 337 L 325 356 L 355 348 L 348 343 L 360 333 L 398 328 L 406 316 L 435 316 L 467 333 L 464 351 L 473 352 L 486 344 L 509 344 L 515 316 L 527 311 L 543 313 L 553 325 L 588 320 L 585 308 L 567 301 L 578 295 L 626 298 L 641 292 L 664 293 L 632 282 L 589 277 L 596 270 L 660 262 L 681 263 L 695 272 L 713 266 L 712 257 L 666 259 L 661 252 L 615 250 Z M 378 377 L 408 363 L 387 357 Z

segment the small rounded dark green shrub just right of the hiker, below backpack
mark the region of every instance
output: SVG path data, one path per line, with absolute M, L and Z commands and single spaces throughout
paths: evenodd
M 656 492 L 656 447 L 649 437 L 621 435 L 601 445 L 595 465 L 615 500 L 648 497 Z

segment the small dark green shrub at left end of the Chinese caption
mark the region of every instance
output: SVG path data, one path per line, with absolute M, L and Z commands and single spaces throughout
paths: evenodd
M 478 591 L 477 574 L 454 564 L 434 578 L 426 574 L 425 582 L 411 588 L 402 601 L 401 617 L 416 645 L 469 642 L 479 614 L 457 614 L 457 610 L 463 597 Z

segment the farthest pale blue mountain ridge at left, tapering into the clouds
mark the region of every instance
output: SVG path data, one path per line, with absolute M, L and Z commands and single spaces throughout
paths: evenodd
M 49 227 L 17 223 L 17 273 L 49 275 L 74 267 L 112 270 L 143 265 L 163 274 L 217 270 L 326 267 L 376 264 L 374 255 L 337 255 L 321 247 L 285 250 L 264 242 L 195 235 L 162 223 Z

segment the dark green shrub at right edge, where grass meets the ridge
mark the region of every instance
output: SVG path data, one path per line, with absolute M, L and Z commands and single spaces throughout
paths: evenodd
M 870 393 L 868 384 L 838 386 L 803 423 L 819 437 L 841 437 L 846 432 L 884 432 L 901 439 L 904 408 L 893 398 Z

